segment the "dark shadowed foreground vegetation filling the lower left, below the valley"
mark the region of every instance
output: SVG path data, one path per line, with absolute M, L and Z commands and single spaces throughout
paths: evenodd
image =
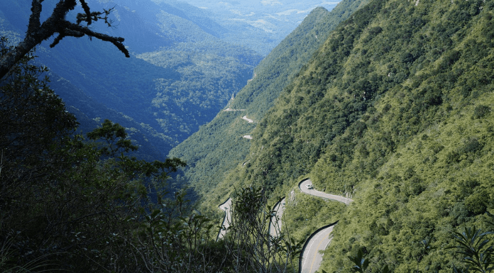
M 13 50 L 0 40 L 0 58 Z M 87 135 L 33 52 L 0 82 L 0 272 L 296 272 L 301 242 L 270 238 L 268 196 L 241 189 L 226 238 L 168 182 L 185 163 L 146 162 L 123 126 Z

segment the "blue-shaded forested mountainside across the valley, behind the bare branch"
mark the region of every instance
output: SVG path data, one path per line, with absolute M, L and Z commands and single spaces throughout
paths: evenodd
M 43 18 L 55 4 L 43 2 Z M 214 36 L 221 26 L 207 16 L 187 14 L 183 3 L 181 8 L 150 0 L 94 1 L 90 5 L 94 11 L 114 8 L 114 27 L 96 22 L 92 28 L 124 37 L 132 57 L 124 57 L 114 45 L 97 39 L 65 38 L 55 48 L 48 48 L 49 43 L 38 46 L 37 61 L 104 106 L 100 113 L 108 109 L 121 113 L 132 121 L 124 126 L 157 140 L 153 145 L 162 157 L 211 121 L 231 94 L 245 86 L 261 60 L 253 50 Z M 0 35 L 14 45 L 25 35 L 30 6 L 31 0 L 0 2 Z M 76 21 L 77 12 L 69 13 L 67 17 L 72 18 L 68 19 Z M 72 106 L 82 113 L 99 107 L 77 102 L 83 104 Z M 92 119 L 109 118 L 85 114 Z

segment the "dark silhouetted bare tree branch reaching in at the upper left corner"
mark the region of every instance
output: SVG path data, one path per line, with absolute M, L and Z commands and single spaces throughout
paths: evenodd
M 43 40 L 48 40 L 55 35 L 55 33 L 58 33 L 58 35 L 50 45 L 50 48 L 53 48 L 67 36 L 79 38 L 88 35 L 89 37 L 113 43 L 126 57 L 131 57 L 123 44 L 124 38 L 97 33 L 88 28 L 93 21 L 98 21 L 99 19 L 104 20 L 106 25 L 111 26 L 109 14 L 113 9 L 104 10 L 103 12 L 92 12 L 85 0 L 78 1 L 82 5 L 84 13 L 77 14 L 77 23 L 65 20 L 67 13 L 77 6 L 77 0 L 59 0 L 57 6 L 53 9 L 51 16 L 45 22 L 41 23 L 40 13 L 43 8 L 43 0 L 32 0 L 31 16 L 29 18 L 26 37 L 21 43 L 18 43 L 13 50 L 0 59 L 0 79 L 4 78 L 13 65 L 21 60 L 24 55 L 31 51 L 36 45 L 43 42 Z M 82 26 L 82 22 L 85 22 L 86 26 Z

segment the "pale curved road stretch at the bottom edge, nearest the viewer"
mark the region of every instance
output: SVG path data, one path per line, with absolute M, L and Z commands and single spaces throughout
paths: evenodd
M 319 251 L 325 250 L 331 243 L 329 234 L 333 231 L 334 225 L 328 228 L 319 230 L 312 238 L 310 238 L 307 248 L 302 254 L 302 269 L 300 273 L 314 273 L 321 266 L 322 254 Z

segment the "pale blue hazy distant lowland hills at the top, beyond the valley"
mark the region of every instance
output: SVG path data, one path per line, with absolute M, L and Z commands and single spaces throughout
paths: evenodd
M 223 28 L 222 40 L 246 45 L 263 55 L 268 55 L 298 24 L 302 23 L 310 11 L 318 6 L 330 11 L 339 1 L 186 0 L 186 2 L 199 7 L 203 13 L 214 16 L 213 18 Z

